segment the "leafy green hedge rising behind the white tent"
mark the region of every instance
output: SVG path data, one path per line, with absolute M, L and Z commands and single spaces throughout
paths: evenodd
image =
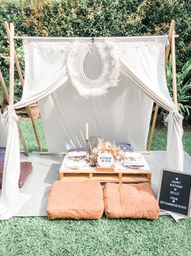
M 15 24 L 15 33 L 25 36 L 103 37 L 159 35 L 176 20 L 176 59 L 180 71 L 191 55 L 191 1 L 179 0 L 65 0 L 1 1 L 0 24 Z M 0 26 L 0 65 L 8 77 L 8 45 Z M 21 42 L 16 42 L 23 59 Z M 22 66 L 23 66 L 23 61 Z M 188 77 L 188 79 L 190 76 Z M 17 98 L 20 97 L 19 82 Z

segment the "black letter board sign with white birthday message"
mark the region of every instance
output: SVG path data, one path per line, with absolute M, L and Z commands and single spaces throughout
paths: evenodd
M 191 174 L 162 170 L 158 191 L 158 205 L 161 210 L 189 216 Z

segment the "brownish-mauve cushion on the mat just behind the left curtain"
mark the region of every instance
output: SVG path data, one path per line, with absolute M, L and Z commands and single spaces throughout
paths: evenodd
M 29 161 L 20 162 L 20 179 L 19 187 L 22 188 L 25 181 L 28 179 L 28 175 L 32 172 L 33 166 Z M 3 164 L 0 164 L 0 188 L 2 188 L 2 173 L 3 173 Z

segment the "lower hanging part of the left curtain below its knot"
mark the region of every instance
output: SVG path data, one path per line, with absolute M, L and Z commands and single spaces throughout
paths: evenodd
M 11 218 L 15 214 L 15 201 L 19 195 L 20 177 L 20 142 L 17 128 L 18 117 L 12 107 L 7 108 L 4 114 L 7 123 L 7 150 L 4 161 L 2 196 L 0 201 L 0 217 L 2 219 Z M 18 150 L 19 149 L 19 150 Z

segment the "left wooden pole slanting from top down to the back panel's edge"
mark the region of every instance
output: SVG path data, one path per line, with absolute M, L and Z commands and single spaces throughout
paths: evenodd
M 10 42 L 10 35 L 11 35 L 10 33 L 11 33 L 11 31 L 9 29 L 9 24 L 7 23 L 7 21 L 5 21 L 5 22 L 3 22 L 3 25 L 4 25 L 4 27 L 7 31 L 7 38 Z M 15 56 L 16 68 L 17 68 L 17 71 L 18 71 L 19 77 L 20 77 L 20 83 L 21 83 L 21 86 L 24 86 L 24 77 L 22 75 L 22 71 L 21 71 L 21 68 L 20 68 L 20 62 L 19 62 L 18 57 L 16 55 L 15 47 L 14 47 L 14 56 Z M 39 139 L 39 136 L 38 136 L 37 126 L 35 124 L 35 120 L 34 120 L 32 112 L 31 112 L 31 107 L 28 106 L 27 109 L 28 109 L 29 117 L 31 118 L 31 121 L 32 121 L 34 134 L 35 134 L 35 137 L 37 139 L 38 150 L 39 150 L 39 152 L 41 152 L 42 151 L 41 150 L 41 142 L 40 142 L 40 139 Z

